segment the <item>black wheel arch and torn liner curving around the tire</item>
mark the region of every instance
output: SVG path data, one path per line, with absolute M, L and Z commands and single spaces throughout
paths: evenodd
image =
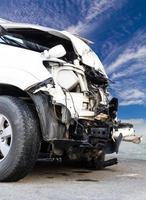
M 43 92 L 33 93 L 25 91 L 10 84 L 0 84 L 0 96 L 14 96 L 21 98 L 32 106 L 39 120 L 40 136 L 43 141 L 50 141 L 54 138 L 63 138 L 65 127 L 59 123 L 52 110 L 49 95 Z

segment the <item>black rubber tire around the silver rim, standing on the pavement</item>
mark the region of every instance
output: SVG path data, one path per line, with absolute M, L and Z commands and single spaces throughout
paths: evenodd
M 18 181 L 31 171 L 38 157 L 39 123 L 32 109 L 16 97 L 0 96 L 0 114 L 9 120 L 13 136 L 7 156 L 0 160 L 0 181 Z

